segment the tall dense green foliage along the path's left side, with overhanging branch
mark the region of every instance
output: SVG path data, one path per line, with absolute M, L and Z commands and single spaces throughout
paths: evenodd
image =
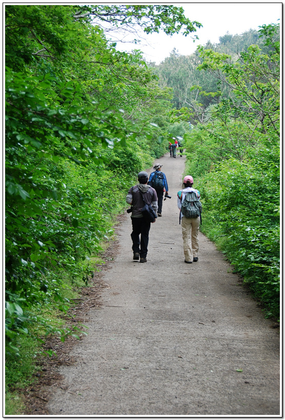
M 129 186 L 165 152 L 171 94 L 139 51 L 108 43 L 101 24 L 169 34 L 200 24 L 159 5 L 6 5 L 5 13 L 6 350 L 21 360 L 24 338 L 76 335 L 49 311 L 69 309 Z

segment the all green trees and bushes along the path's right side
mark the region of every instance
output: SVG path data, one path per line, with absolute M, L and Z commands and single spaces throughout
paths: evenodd
M 279 42 L 278 27 L 259 31 L 232 60 L 199 48 L 209 71 L 231 89 L 185 136 L 187 173 L 203 202 L 202 231 L 225 252 L 262 302 L 279 316 Z M 228 41 L 227 41 L 228 43 Z

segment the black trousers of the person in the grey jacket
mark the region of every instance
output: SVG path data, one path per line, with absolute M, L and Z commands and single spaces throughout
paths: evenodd
M 139 253 L 140 258 L 146 258 L 148 254 L 150 223 L 143 217 L 131 217 L 133 232 L 131 238 L 133 241 L 132 250 Z M 140 235 L 140 240 L 139 240 Z

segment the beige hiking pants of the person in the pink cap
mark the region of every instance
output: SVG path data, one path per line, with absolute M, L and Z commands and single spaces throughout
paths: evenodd
M 200 218 L 195 217 L 190 219 L 188 217 L 181 218 L 183 248 L 186 261 L 193 261 L 194 257 L 198 257 Z

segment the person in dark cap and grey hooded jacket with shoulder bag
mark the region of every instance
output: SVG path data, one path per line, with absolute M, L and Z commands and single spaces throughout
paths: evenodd
M 147 262 L 149 230 L 151 222 L 145 220 L 141 210 L 145 204 L 151 204 L 156 214 L 157 194 L 154 188 L 152 188 L 150 185 L 147 185 L 149 179 L 147 172 L 139 172 L 137 178 L 139 184 L 130 188 L 126 197 L 126 201 L 128 204 L 131 204 L 130 212 L 132 213 L 131 219 L 133 227 L 133 231 L 131 233 L 131 238 L 133 241 L 133 260 L 140 260 L 139 262 L 144 263 Z M 128 213 L 130 212 L 128 211 Z M 154 222 L 155 219 L 152 223 Z

